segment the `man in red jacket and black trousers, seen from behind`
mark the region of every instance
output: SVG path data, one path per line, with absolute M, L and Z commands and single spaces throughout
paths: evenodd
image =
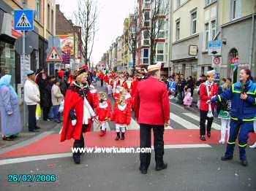
M 170 124 L 170 103 L 165 83 L 160 82 L 161 63 L 148 66 L 148 79 L 138 84 L 135 93 L 135 117 L 140 124 L 140 148 L 151 148 L 154 131 L 156 171 L 167 168 L 164 163 L 164 130 Z M 151 154 L 140 153 L 140 171 L 147 174 Z

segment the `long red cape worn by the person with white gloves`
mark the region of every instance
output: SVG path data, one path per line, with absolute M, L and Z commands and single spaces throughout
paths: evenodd
M 72 90 L 72 87 L 71 89 L 67 90 L 65 97 L 61 141 L 69 140 L 71 138 L 80 140 L 80 135 L 83 129 L 83 98 L 78 92 Z M 92 98 L 89 91 L 86 98 L 89 101 L 89 104 L 92 106 Z M 71 109 L 75 109 L 75 114 L 77 117 L 77 124 L 75 126 L 72 126 L 71 124 Z M 86 132 L 88 131 L 91 131 L 91 121 L 89 121 L 89 127 L 86 128 Z

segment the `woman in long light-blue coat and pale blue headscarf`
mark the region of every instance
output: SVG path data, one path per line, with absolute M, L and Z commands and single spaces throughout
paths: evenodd
M 12 141 L 21 131 L 18 95 L 13 89 L 11 75 L 0 79 L 0 114 L 3 140 Z

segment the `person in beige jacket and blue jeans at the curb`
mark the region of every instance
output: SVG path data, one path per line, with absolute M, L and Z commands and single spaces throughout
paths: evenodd
M 60 123 L 59 106 L 61 101 L 64 99 L 64 95 L 61 94 L 61 89 L 59 88 L 59 81 L 55 80 L 53 82 L 53 87 L 51 88 L 51 100 L 53 103 L 53 120 L 54 122 Z

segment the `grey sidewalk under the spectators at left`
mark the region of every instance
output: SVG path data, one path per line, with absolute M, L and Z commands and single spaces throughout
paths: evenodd
M 21 118 L 21 122 L 22 122 L 22 126 L 23 126 L 23 105 L 20 105 L 20 118 Z M 27 115 L 26 115 L 26 119 L 27 119 Z M 49 130 L 56 130 L 59 131 L 60 127 L 62 124 L 57 124 L 56 122 L 48 122 L 48 121 L 43 121 L 42 119 L 40 119 L 37 122 L 37 125 L 41 128 L 40 131 L 38 133 L 32 133 L 29 132 L 29 128 L 26 126 L 23 126 L 23 129 L 21 131 L 21 133 L 19 134 L 18 138 L 14 139 L 13 141 L 3 141 L 2 139 L 0 139 L 0 150 L 5 148 L 5 147 L 10 147 L 14 144 L 18 144 L 22 141 L 26 141 L 28 139 L 33 138 L 34 136 L 38 136 L 40 133 L 43 133 L 45 131 L 49 131 Z

